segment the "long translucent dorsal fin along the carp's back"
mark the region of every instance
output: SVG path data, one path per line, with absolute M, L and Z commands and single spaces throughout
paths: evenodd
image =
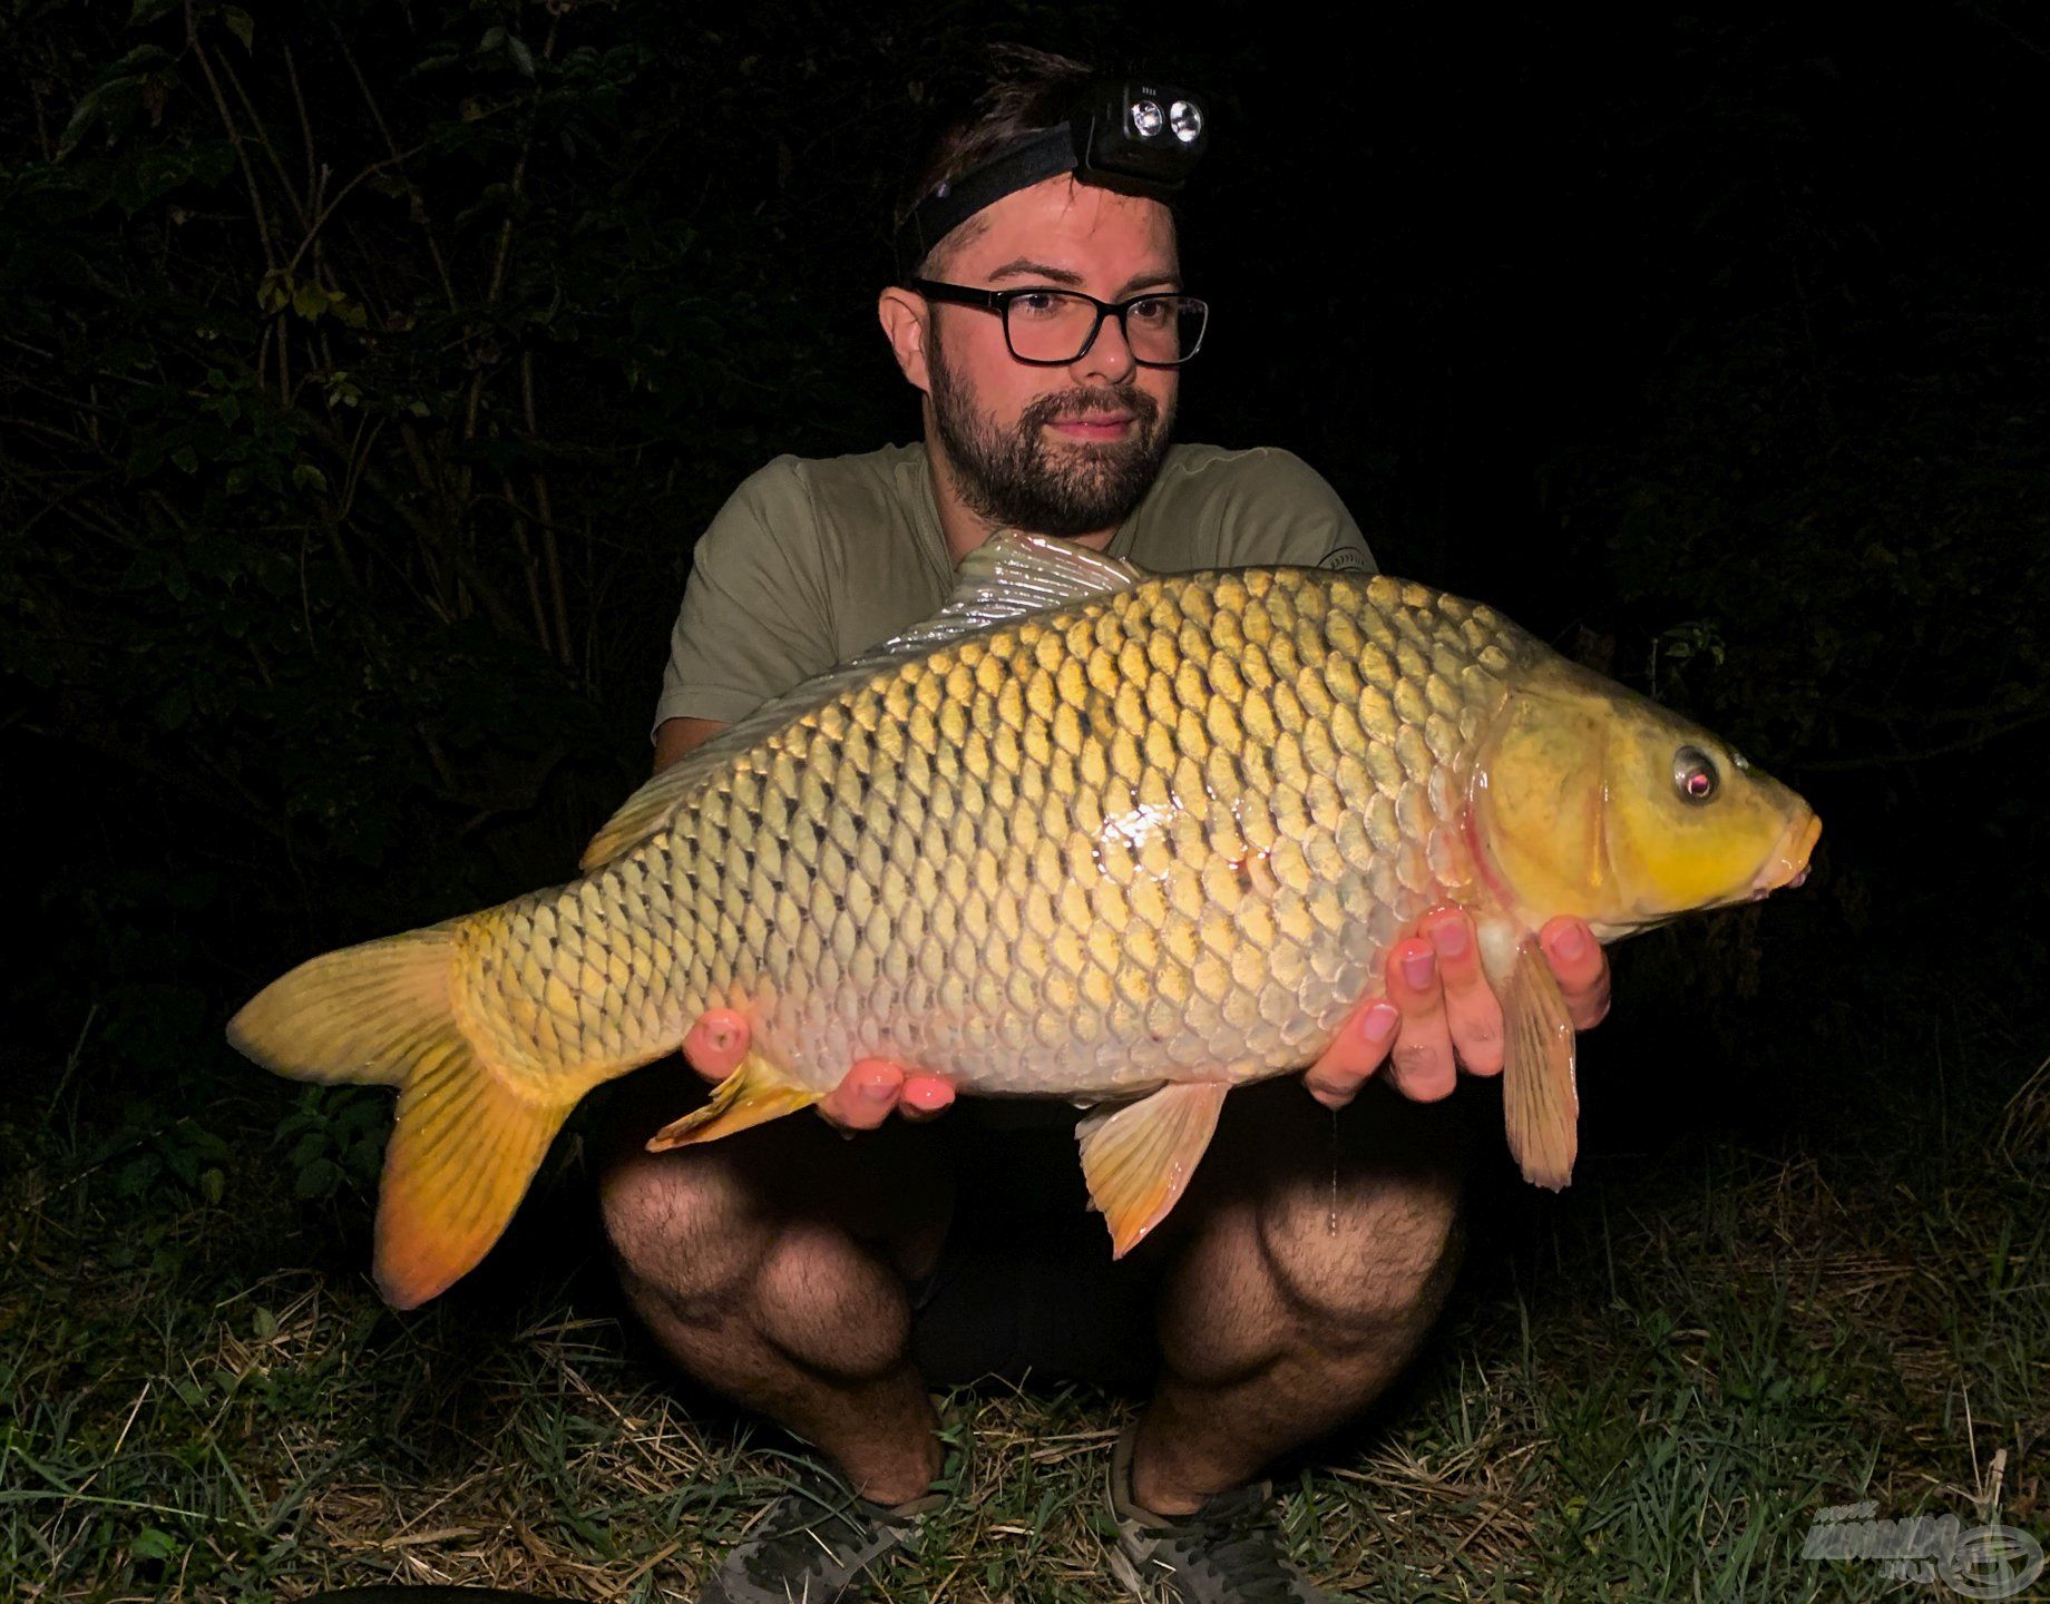
M 687 752 L 625 799 L 621 809 L 605 821 L 605 828 L 590 838 L 578 867 L 588 875 L 619 854 L 631 852 L 668 824 L 676 807 L 697 795 L 715 774 L 732 768 L 734 760 L 750 752 L 765 735 L 775 733 L 791 719 L 818 711 L 873 674 L 922 658 L 949 641 L 974 635 L 978 629 L 1048 613 L 1086 596 L 1130 590 L 1144 578 L 1148 578 L 1144 569 L 1089 547 L 1050 541 L 1043 535 L 1019 535 L 1013 529 L 998 531 L 961 557 L 953 594 L 939 613 L 900 635 L 892 635 L 881 645 L 869 647 L 859 658 L 806 680 L 789 694 L 763 703 L 703 746 Z

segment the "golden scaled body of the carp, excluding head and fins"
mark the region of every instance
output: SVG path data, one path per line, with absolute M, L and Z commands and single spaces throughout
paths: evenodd
M 465 1026 L 531 1071 L 709 1006 L 814 1088 L 863 1055 L 970 1092 L 1253 1080 L 1330 1041 L 1402 928 L 1472 901 L 1470 748 L 1519 633 L 1386 578 L 1242 569 L 966 637 L 480 928 Z

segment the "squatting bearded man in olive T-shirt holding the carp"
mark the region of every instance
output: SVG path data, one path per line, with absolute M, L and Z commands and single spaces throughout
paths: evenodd
M 1298 459 L 1168 447 L 1179 363 L 1203 322 L 1181 299 L 1173 215 L 1076 172 L 1074 156 L 1052 176 L 1021 164 L 1080 115 L 1089 74 L 1029 53 L 1009 66 L 933 152 L 906 217 L 914 234 L 935 217 L 945 234 L 877 305 L 925 395 L 925 442 L 779 459 L 728 502 L 697 547 L 658 768 L 935 613 L 953 563 L 1000 526 L 1152 569 L 1371 563 L 1337 496 Z M 1052 338 L 1064 318 L 1068 334 Z M 1556 922 L 1544 944 L 1576 1024 L 1595 1022 L 1607 969 L 1591 932 Z M 715 1014 L 685 1053 L 717 1078 L 744 1047 L 744 1020 Z M 1343 1108 L 1384 1059 L 1390 1075 L 1365 1088 L 1371 1116 L 1335 1125 L 1312 1102 Z M 1050 1291 L 1021 1293 L 1089 1311 L 1134 1286 L 1152 1299 L 1160 1379 L 1111 1465 L 1128 1579 L 1191 1604 L 1324 1598 L 1283 1563 L 1255 1477 L 1376 1397 L 1443 1301 L 1460 1143 L 1439 1100 L 1455 1059 L 1499 1071 L 1501 1014 L 1472 926 L 1445 910 L 1392 953 L 1386 1000 L 1308 1071 L 1310 1096 L 1292 1080 L 1234 1094 L 1210 1159 L 1121 1278 L 1105 1278 L 1099 1225 L 1093 1252 L 1072 1256 Z M 625 1088 L 601 1180 L 621 1278 L 685 1370 L 806 1438 L 845 1477 L 799 1479 L 703 1604 L 853 1598 L 865 1567 L 959 1483 L 949 1448 L 966 1444 L 935 1422 L 914 1338 L 945 1303 L 955 1215 L 1027 1188 L 1031 1166 L 1007 1170 L 992 1155 L 1011 1137 L 970 1133 L 966 1110 L 925 1125 L 953 1092 L 898 1065 L 855 1065 L 822 1104 L 834 1125 L 871 1133 L 851 1143 L 781 1121 L 642 1151 L 683 1096 L 660 1069 Z M 963 1143 L 976 1143 L 972 1174 Z M 1058 1227 L 1002 1229 L 1023 1248 Z

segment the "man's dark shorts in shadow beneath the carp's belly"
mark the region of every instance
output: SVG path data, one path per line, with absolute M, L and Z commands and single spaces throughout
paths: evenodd
M 650 1065 L 609 1092 L 605 1143 L 615 1151 L 705 1094 L 681 1061 Z M 797 1213 L 840 1221 L 865 1239 L 888 1241 L 922 1209 L 937 1211 L 925 1215 L 945 1221 L 935 1268 L 908 1282 L 910 1352 L 935 1385 L 1029 1375 L 1130 1391 L 1148 1387 L 1158 1368 L 1156 1295 L 1181 1229 L 1203 1207 L 1259 1207 L 1275 1176 L 1316 1180 L 1326 1170 L 1337 1205 L 1341 1164 L 1390 1178 L 1455 1168 L 1460 1102 L 1410 1104 L 1367 1086 L 1341 1137 L 1341 1121 L 1296 1078 L 1236 1090 L 1189 1196 L 1123 1260 L 1111 1258 L 1111 1235 L 1082 1184 L 1080 1114 L 1052 1100 L 963 1098 L 937 1121 L 892 1118 L 851 1141 L 795 1114 L 726 1141 L 752 1145 L 756 1184 L 787 1188 Z

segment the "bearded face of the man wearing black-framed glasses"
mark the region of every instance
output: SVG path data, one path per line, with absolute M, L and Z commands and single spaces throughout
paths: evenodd
M 1099 301 L 1181 289 L 1164 205 L 1048 178 L 961 225 L 931 277 L 976 289 L 1078 289 Z M 1123 522 L 1160 471 L 1177 371 L 1132 361 L 1105 318 L 1066 367 L 1017 361 L 1002 318 L 933 305 L 933 430 L 961 500 L 994 526 L 1076 537 Z

